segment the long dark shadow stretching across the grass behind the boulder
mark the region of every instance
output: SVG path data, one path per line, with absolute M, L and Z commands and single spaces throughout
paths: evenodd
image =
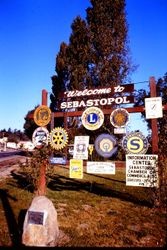
M 17 186 L 26 189 L 30 192 L 34 192 L 33 186 L 27 182 L 26 176 L 12 172 L 12 177 L 17 180 Z M 123 201 L 133 202 L 136 205 L 152 207 L 153 201 L 148 200 L 139 200 L 132 194 L 127 193 L 126 191 L 116 191 L 113 190 L 110 186 L 106 186 L 105 184 L 99 184 L 96 182 L 83 182 L 81 180 L 70 179 L 63 175 L 55 174 L 54 176 L 50 176 L 50 181 L 47 187 L 54 191 L 63 191 L 63 190 L 73 190 L 73 191 L 87 191 L 90 193 L 94 193 L 100 196 L 108 196 L 113 198 L 118 198 Z M 105 179 L 105 177 L 103 177 Z M 123 182 L 119 180 L 114 180 L 114 182 Z M 12 184 L 11 184 L 12 185 Z

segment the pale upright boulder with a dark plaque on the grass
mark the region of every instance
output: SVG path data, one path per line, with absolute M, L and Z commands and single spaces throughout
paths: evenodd
M 57 211 L 45 196 L 33 198 L 27 210 L 22 234 L 26 246 L 56 246 L 59 238 Z

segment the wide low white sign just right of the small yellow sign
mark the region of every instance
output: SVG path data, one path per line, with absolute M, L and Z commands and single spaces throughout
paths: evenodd
M 114 162 L 87 162 L 87 173 L 89 174 L 115 174 Z

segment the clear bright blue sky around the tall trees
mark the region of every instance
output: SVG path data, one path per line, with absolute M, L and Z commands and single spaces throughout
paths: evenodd
M 0 130 L 23 131 L 28 111 L 51 93 L 51 77 L 62 42 L 69 42 L 76 16 L 85 18 L 89 0 L 0 0 Z M 137 70 L 131 81 L 148 88 L 167 72 L 167 1 L 126 0 L 128 39 Z M 132 119 L 132 130 L 141 118 Z M 143 126 L 144 128 L 144 126 Z

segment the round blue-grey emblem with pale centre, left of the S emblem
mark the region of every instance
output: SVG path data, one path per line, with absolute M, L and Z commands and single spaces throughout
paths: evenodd
M 109 158 L 117 151 L 116 143 L 114 136 L 101 134 L 95 140 L 95 149 L 99 155 Z

